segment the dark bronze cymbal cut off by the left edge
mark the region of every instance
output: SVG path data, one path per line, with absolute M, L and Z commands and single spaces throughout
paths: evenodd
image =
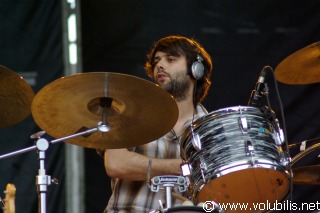
M 22 77 L 0 65 L 0 128 L 14 125 L 31 113 L 34 92 Z

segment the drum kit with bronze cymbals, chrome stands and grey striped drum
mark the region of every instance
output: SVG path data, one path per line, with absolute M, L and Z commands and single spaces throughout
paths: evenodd
M 319 57 L 317 42 L 283 60 L 275 69 L 275 76 L 286 84 L 319 83 Z M 46 189 L 51 181 L 44 166 L 50 144 L 64 141 L 93 149 L 129 148 L 161 137 L 178 119 L 176 102 L 167 92 L 154 83 L 120 73 L 62 77 L 35 95 L 23 78 L 0 66 L 0 100 L 0 128 L 14 125 L 31 113 L 42 130 L 57 138 L 48 141 L 41 137 L 44 131 L 39 132 L 32 135 L 35 146 L 0 156 L 3 159 L 38 151 L 37 185 L 42 213 L 46 212 Z M 169 203 L 170 189 L 175 185 L 188 191 L 187 198 L 192 203 L 275 203 L 288 198 L 292 183 L 320 185 L 319 165 L 291 168 L 318 149 L 320 142 L 291 159 L 284 149 L 281 131 L 277 119 L 270 119 L 259 107 L 213 111 L 192 122 L 180 138 L 181 157 L 189 174 L 184 172 L 182 178 L 154 177 L 153 184 L 158 185 L 153 190 L 159 190 L 159 185 L 167 186 Z M 216 212 L 221 210 L 216 206 Z M 159 210 L 201 211 L 204 208 L 196 206 Z

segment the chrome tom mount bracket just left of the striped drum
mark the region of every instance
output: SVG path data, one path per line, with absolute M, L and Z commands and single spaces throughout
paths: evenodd
M 150 189 L 158 192 L 159 189 L 166 190 L 166 207 L 172 206 L 172 188 L 177 187 L 179 192 L 185 192 L 189 186 L 189 179 L 183 176 L 163 175 L 155 176 L 151 179 Z

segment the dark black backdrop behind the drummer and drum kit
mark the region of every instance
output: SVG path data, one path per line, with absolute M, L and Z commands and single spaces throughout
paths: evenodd
M 61 2 L 0 3 L 0 64 L 26 76 L 37 93 L 63 73 Z M 320 40 L 319 8 L 320 1 L 316 0 L 81 1 L 83 71 L 126 73 L 147 79 L 143 66 L 151 44 L 163 36 L 185 35 L 202 43 L 213 59 L 212 87 L 204 103 L 208 111 L 246 106 L 265 65 L 275 69 L 293 52 Z M 320 74 L 319 66 L 313 69 Z M 266 81 L 271 105 L 283 127 L 271 73 Z M 279 82 L 278 87 L 288 142 L 320 137 L 319 83 Z M 31 115 L 0 129 L 0 154 L 34 145 L 30 135 L 39 130 Z M 319 140 L 308 145 L 316 142 Z M 299 147 L 290 150 L 292 157 L 298 152 Z M 295 167 L 319 164 L 319 154 L 319 150 L 310 153 Z M 37 157 L 36 152 L 30 152 L 0 161 L 0 190 L 7 183 L 16 185 L 17 213 L 37 212 Z M 85 159 L 86 212 L 102 212 L 110 196 L 110 180 L 95 150 L 86 149 Z M 48 212 L 63 213 L 63 143 L 48 150 L 46 169 L 59 179 L 59 185 L 48 189 Z M 320 198 L 319 189 L 294 185 L 292 202 L 315 203 Z

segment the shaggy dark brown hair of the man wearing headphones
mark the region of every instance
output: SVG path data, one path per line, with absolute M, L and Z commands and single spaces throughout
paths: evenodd
M 191 66 L 193 62 L 197 61 L 197 56 L 199 55 L 203 58 L 204 76 L 197 80 L 194 99 L 194 104 L 201 103 L 207 96 L 211 85 L 212 61 L 206 50 L 196 40 L 184 36 L 173 35 L 161 38 L 153 45 L 151 51 L 147 54 L 147 61 L 144 67 L 147 75 L 152 79 L 155 66 L 154 56 L 158 51 L 174 56 L 185 56 L 187 59 L 188 73 L 191 73 Z

